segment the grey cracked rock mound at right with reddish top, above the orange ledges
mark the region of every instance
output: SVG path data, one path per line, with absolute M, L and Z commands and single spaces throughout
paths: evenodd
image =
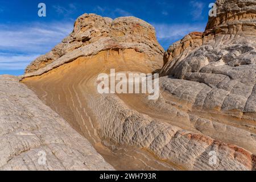
M 193 32 L 168 49 L 161 73 L 182 79 L 170 79 L 167 87 L 192 107 L 233 111 L 238 117 L 254 120 L 256 1 L 216 4 L 217 17 L 209 18 L 204 33 Z

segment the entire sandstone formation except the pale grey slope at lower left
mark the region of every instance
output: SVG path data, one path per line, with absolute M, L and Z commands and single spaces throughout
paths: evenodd
M 256 3 L 216 3 L 204 33 L 164 53 L 156 101 L 97 92 L 110 68 L 151 73 L 162 64 L 154 28 L 133 17 L 80 16 L 22 81 L 116 169 L 255 170 Z

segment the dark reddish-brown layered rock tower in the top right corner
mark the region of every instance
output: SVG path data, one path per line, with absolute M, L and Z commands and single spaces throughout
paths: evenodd
M 218 0 L 216 5 L 217 16 L 209 17 L 206 32 L 255 35 L 255 0 Z

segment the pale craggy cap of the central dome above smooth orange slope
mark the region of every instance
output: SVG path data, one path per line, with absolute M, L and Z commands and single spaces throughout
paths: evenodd
M 76 20 L 73 32 L 51 52 L 33 61 L 26 73 L 38 71 L 54 62 L 43 69 L 46 71 L 78 57 L 96 55 L 110 49 L 143 52 L 147 57 L 146 66 L 154 69 L 162 67 L 160 60 L 164 49 L 157 42 L 154 27 L 150 24 L 134 17 L 112 20 L 96 14 L 84 14 Z

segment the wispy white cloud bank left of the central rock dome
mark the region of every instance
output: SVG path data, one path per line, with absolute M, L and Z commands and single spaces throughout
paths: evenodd
M 24 69 L 60 43 L 72 29 L 73 22 L 0 24 L 0 69 Z

